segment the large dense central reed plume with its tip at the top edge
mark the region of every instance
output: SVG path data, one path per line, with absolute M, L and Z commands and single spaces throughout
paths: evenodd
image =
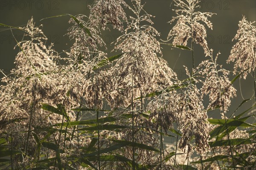
M 161 54 L 160 43 L 155 38 L 159 33 L 151 26 L 152 16 L 144 12 L 140 0 L 133 1 L 133 8 L 130 9 L 135 17 L 130 17 L 131 21 L 128 21 L 125 34 L 120 36 L 115 44 L 116 50 L 125 52 L 116 63 L 116 78 L 119 84 L 125 78 L 131 78 L 129 81 L 133 86 L 144 91 L 151 84 L 149 70 L 155 62 L 155 53 Z M 150 25 L 143 25 L 146 22 Z

